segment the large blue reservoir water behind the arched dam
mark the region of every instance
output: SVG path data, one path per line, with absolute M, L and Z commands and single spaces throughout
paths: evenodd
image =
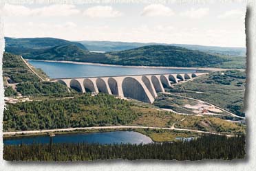
M 65 62 L 46 62 L 29 60 L 30 65 L 41 68 L 50 78 L 100 77 L 100 76 L 131 76 L 158 73 L 191 73 L 195 69 L 163 69 L 147 67 L 114 67 L 102 65 L 85 65 Z

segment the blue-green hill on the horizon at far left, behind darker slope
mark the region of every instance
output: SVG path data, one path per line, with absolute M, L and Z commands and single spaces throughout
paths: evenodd
M 77 47 L 87 51 L 86 47 L 81 43 L 66 41 L 59 38 L 10 38 L 5 37 L 5 51 L 12 54 L 23 55 L 28 52 L 36 52 L 39 49 L 48 49 L 50 47 L 61 45 L 76 45 Z

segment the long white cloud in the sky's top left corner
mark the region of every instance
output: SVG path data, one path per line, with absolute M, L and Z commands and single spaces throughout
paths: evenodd
M 1 16 L 70 16 L 80 11 L 75 5 L 56 4 L 30 9 L 23 5 L 6 4 L 1 8 Z

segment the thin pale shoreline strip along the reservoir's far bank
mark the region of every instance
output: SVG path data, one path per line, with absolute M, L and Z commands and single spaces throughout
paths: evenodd
M 127 67 L 127 68 L 145 68 L 145 69 L 191 69 L 198 71 L 226 71 L 231 69 L 224 68 L 211 68 L 211 67 L 156 67 L 156 66 L 136 66 L 136 65 L 110 65 L 110 64 L 102 64 L 102 63 L 92 63 L 92 62 L 75 62 L 75 61 L 67 61 L 67 60 L 34 60 L 34 59 L 25 59 L 32 61 L 41 61 L 41 62 L 59 62 L 59 63 L 70 63 L 70 64 L 79 64 L 79 65 L 96 65 L 96 66 L 106 66 L 106 67 Z M 239 71 L 244 71 L 245 69 L 236 69 Z

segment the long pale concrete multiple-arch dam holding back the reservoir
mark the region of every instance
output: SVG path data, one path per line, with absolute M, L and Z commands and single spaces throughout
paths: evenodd
M 107 93 L 120 98 L 132 98 L 142 102 L 153 103 L 158 92 L 171 87 L 171 84 L 191 80 L 206 72 L 195 73 L 164 73 L 140 76 L 110 76 L 89 78 L 55 78 L 76 91 L 86 93 Z

